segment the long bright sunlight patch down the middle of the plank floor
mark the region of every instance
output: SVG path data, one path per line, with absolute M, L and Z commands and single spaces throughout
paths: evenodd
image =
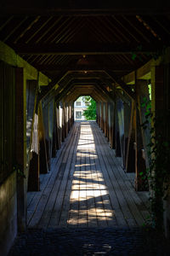
M 102 172 L 97 170 L 94 136 L 90 125 L 81 126 L 77 162 L 71 186 L 68 224 L 102 225 L 114 218 Z

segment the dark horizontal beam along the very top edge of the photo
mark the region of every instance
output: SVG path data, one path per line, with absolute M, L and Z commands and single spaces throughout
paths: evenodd
M 22 1 L 5 0 L 0 3 L 2 14 L 31 14 L 31 15 L 162 15 L 169 13 L 167 0 L 151 1 L 143 0 L 134 2 L 133 0 L 58 0 L 58 1 Z

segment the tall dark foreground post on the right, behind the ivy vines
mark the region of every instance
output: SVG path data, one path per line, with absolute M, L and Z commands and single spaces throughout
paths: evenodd
M 159 148 L 159 143 L 163 143 L 164 140 L 166 139 L 165 136 L 165 131 L 167 123 L 169 122 L 169 119 L 167 120 L 166 118 L 166 112 L 165 111 L 165 95 L 164 91 L 166 89 L 165 83 L 164 83 L 164 68 L 162 66 L 158 67 L 151 67 L 151 110 L 153 113 L 155 113 L 156 117 L 156 130 L 155 130 L 155 136 L 158 141 L 158 148 Z M 168 84 L 169 86 L 169 84 Z M 152 124 L 151 124 L 152 125 Z M 159 135 L 161 137 L 159 138 Z M 163 152 L 164 154 L 164 152 Z M 166 161 L 166 160 L 165 160 Z M 164 166 L 165 163 L 163 163 Z M 165 164 L 166 166 L 166 164 Z M 166 166 L 167 167 L 167 166 Z M 161 182 L 160 176 L 163 175 L 159 172 L 159 166 L 155 166 L 155 183 L 156 183 L 156 190 L 155 192 L 155 198 L 156 198 L 156 205 L 159 207 L 156 207 L 156 219 L 158 221 L 156 222 L 156 228 L 161 230 L 163 226 L 163 220 L 164 223 L 166 224 L 165 220 L 165 212 L 159 211 L 161 207 L 163 207 L 163 199 L 161 195 L 159 194 L 159 189 L 162 188 L 163 184 Z M 169 169 L 169 166 L 167 167 Z M 170 201 L 170 199 L 169 199 Z M 167 205 L 168 206 L 168 205 Z M 167 209 L 166 209 L 167 210 Z M 164 219 L 163 219 L 164 217 Z M 168 217 L 169 218 L 169 217 Z M 165 233 L 169 232 L 170 224 L 168 224 L 167 221 L 167 227 L 165 227 Z

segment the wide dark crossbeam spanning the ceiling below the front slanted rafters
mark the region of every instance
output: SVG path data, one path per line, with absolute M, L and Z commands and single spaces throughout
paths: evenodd
M 13 44 L 19 55 L 119 55 L 148 54 L 162 48 L 162 44 Z

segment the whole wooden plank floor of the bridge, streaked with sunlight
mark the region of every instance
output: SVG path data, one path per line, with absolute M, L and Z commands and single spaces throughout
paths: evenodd
M 138 227 L 150 215 L 147 192 L 134 191 L 95 122 L 75 123 L 40 181 L 28 192 L 29 228 Z

